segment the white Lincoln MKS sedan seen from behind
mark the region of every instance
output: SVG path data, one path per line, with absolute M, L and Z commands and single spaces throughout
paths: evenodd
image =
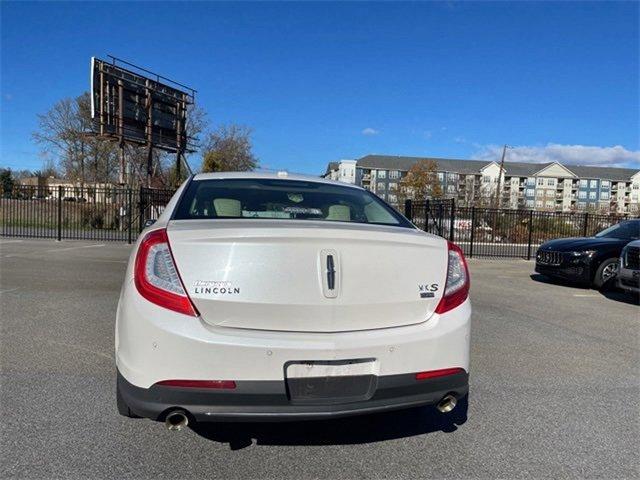
M 457 418 L 468 295 L 460 248 L 362 188 L 195 175 L 129 261 L 118 410 L 170 429 L 422 405 Z

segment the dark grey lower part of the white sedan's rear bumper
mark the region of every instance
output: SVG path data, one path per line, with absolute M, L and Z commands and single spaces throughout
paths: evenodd
M 288 421 L 337 418 L 435 405 L 445 395 L 460 399 L 468 393 L 466 372 L 416 380 L 415 374 L 376 378 L 371 398 L 348 403 L 292 401 L 285 381 L 240 381 L 233 390 L 206 390 L 153 385 L 140 388 L 118 371 L 122 399 L 135 414 L 163 420 L 167 412 L 186 410 L 203 421 Z

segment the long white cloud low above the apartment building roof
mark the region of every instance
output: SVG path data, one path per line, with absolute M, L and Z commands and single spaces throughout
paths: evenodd
M 502 145 L 478 146 L 475 158 L 500 160 Z M 517 146 L 507 150 L 507 161 L 547 163 L 560 162 L 594 167 L 640 168 L 640 150 L 627 150 L 616 145 L 596 147 L 590 145 L 561 145 L 548 143 L 545 146 Z

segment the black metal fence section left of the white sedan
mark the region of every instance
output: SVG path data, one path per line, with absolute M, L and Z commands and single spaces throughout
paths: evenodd
M 16 185 L 0 192 L 0 236 L 133 242 L 174 190 Z

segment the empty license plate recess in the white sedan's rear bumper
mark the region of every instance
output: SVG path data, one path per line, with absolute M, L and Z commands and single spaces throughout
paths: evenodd
M 285 380 L 293 404 L 335 405 L 370 399 L 378 384 L 375 359 L 288 362 Z

